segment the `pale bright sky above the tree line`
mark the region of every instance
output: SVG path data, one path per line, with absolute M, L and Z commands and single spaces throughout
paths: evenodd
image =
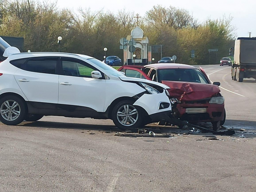
M 232 25 L 236 27 L 236 37 L 249 37 L 248 32 L 252 33 L 252 37 L 256 37 L 256 1 L 253 0 L 58 0 L 57 5 L 59 8 L 69 8 L 73 11 L 78 8 L 90 8 L 92 11 L 105 9 L 117 13 L 120 9 L 127 9 L 142 17 L 154 5 L 172 5 L 188 10 L 200 23 L 208 18 L 231 16 Z

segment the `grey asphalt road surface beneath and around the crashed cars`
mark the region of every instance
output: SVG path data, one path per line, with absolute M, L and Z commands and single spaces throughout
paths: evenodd
M 230 67 L 204 69 L 224 88 L 226 126 L 253 130 L 254 81 L 231 81 Z M 64 117 L 0 124 L 0 191 L 256 190 L 254 134 L 215 141 L 204 134 L 127 138 L 116 131 L 110 120 Z

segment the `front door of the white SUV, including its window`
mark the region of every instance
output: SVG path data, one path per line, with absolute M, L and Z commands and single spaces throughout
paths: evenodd
M 87 108 L 88 111 L 104 111 L 106 80 L 94 79 L 95 67 L 80 60 L 61 57 L 58 104 Z M 104 77 L 104 75 L 102 75 Z

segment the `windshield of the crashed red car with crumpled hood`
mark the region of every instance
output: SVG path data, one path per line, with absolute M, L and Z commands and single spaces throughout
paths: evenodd
M 184 81 L 209 84 L 199 69 L 160 69 L 160 81 Z

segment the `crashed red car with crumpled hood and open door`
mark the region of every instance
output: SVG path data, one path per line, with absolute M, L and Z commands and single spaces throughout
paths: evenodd
M 202 68 L 194 66 L 164 63 L 146 66 L 122 66 L 128 77 L 157 81 L 170 87 L 170 98 L 179 103 L 173 109 L 176 118 L 190 123 L 211 122 L 214 130 L 218 130 L 226 119 L 224 98 L 220 94 L 219 82 L 208 79 Z

